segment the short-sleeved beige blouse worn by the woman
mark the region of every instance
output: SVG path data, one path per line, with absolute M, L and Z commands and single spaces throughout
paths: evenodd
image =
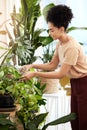
M 61 45 L 58 43 L 60 65 L 65 63 L 72 66 L 67 74 L 70 78 L 80 78 L 87 75 L 87 56 L 82 47 L 83 46 L 73 38 L 70 38 L 65 44 Z

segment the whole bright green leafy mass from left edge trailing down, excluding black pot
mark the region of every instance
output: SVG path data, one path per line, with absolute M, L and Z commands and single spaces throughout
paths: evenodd
M 45 86 L 35 79 L 21 81 L 21 74 L 14 66 L 3 65 L 0 69 L 0 93 L 10 94 L 14 98 L 14 105 L 20 104 L 17 115 L 24 129 L 27 129 L 28 123 L 39 113 L 40 106 L 46 104 L 43 99 Z

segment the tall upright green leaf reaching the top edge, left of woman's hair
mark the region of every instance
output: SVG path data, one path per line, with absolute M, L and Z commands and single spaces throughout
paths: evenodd
M 22 14 L 24 16 L 25 34 L 33 34 L 37 18 L 40 16 L 38 0 L 21 0 Z M 32 8 L 33 7 L 33 8 Z

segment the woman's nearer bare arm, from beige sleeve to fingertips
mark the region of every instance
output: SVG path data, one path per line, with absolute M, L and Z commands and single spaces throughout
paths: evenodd
M 71 65 L 63 64 L 59 71 L 51 71 L 51 72 L 27 72 L 25 73 L 21 79 L 29 80 L 33 77 L 43 77 L 43 78 L 54 78 L 61 79 L 64 77 L 69 70 L 71 69 Z

